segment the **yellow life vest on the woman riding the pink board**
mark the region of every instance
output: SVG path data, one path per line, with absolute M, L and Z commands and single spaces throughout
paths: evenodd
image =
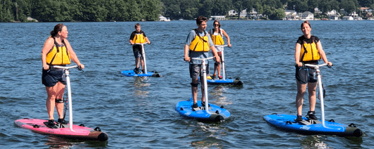
M 53 37 L 54 38 L 54 37 Z M 54 41 L 54 46 L 47 53 L 47 64 L 48 65 L 68 65 L 71 63 L 70 53 L 65 46 L 64 40 L 62 41 L 63 46 L 59 46 Z

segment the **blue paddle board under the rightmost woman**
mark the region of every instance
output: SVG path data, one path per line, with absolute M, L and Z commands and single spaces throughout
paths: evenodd
M 339 124 L 334 122 L 333 119 L 325 121 L 325 126 L 322 126 L 320 120 L 312 120 L 303 117 L 303 121 L 295 122 L 296 115 L 266 115 L 265 121 L 274 127 L 284 129 L 286 131 L 293 131 L 298 134 L 325 134 L 336 136 L 362 136 L 361 129 L 356 128 L 355 124 Z

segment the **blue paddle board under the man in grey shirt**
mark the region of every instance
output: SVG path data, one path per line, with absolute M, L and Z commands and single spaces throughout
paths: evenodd
M 230 112 L 217 105 L 210 104 L 209 113 L 205 107 L 201 106 L 201 101 L 198 101 L 198 108 L 192 108 L 193 101 L 181 101 L 175 105 L 175 110 L 183 117 L 194 118 L 200 122 L 220 122 L 227 120 L 230 117 Z

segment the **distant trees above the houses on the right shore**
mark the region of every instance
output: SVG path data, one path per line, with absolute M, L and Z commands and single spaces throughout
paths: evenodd
M 161 0 L 162 13 L 165 17 L 177 20 L 183 18 L 193 20 L 199 15 L 228 15 L 230 10 L 241 12 L 247 9 L 251 13 L 254 8 L 257 13 L 267 16 L 270 20 L 284 18 L 284 10 L 295 10 L 298 13 L 310 11 L 314 8 L 320 11 L 358 12 L 359 7 L 374 8 L 374 0 Z M 239 16 L 238 16 L 239 17 Z

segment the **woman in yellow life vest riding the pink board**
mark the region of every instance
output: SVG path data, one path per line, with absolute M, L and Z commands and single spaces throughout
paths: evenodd
M 44 42 L 42 49 L 42 84 L 47 91 L 47 112 L 49 115 L 48 124 L 54 126 L 54 107 L 59 114 L 59 123 L 67 124 L 64 120 L 64 90 L 66 78 L 64 71 L 59 69 L 49 70 L 49 66 L 68 65 L 73 60 L 82 69 L 85 65 L 81 64 L 76 53 L 71 48 L 70 43 L 66 39 L 68 37 L 68 29 L 62 23 L 56 25 L 51 31 L 51 37 Z

